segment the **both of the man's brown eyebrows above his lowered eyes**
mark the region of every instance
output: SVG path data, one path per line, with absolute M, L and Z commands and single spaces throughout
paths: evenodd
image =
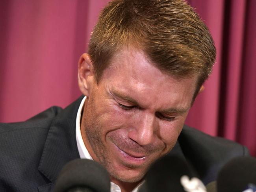
M 120 92 L 118 90 L 113 90 L 112 93 L 113 93 L 113 95 L 121 98 L 122 100 L 125 100 L 127 102 L 130 102 L 130 103 L 140 107 L 139 103 L 136 100 L 134 100 L 133 98 L 127 96 L 126 94 L 124 94 L 124 93 L 122 93 L 122 92 Z M 186 113 L 189 109 L 190 109 L 190 107 L 186 107 L 186 108 L 183 108 L 183 107 L 180 107 L 180 108 L 169 108 L 169 109 L 165 109 L 163 111 L 158 111 L 158 112 L 160 112 L 160 113 L 167 113 L 167 114 L 168 113 L 183 114 L 183 113 Z

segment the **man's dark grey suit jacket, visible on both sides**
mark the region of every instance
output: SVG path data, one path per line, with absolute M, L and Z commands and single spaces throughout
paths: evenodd
M 53 189 L 63 165 L 79 158 L 76 114 L 82 98 L 65 109 L 51 107 L 26 122 L 0 124 L 1 192 Z M 185 159 L 209 183 L 229 159 L 249 152 L 240 144 L 184 126 L 170 154 Z

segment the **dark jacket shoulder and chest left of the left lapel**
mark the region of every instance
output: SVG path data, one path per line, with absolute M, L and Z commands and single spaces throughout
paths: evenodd
M 37 168 L 49 127 L 61 110 L 50 107 L 24 122 L 0 124 L 0 191 L 31 190 L 35 183 L 45 183 Z

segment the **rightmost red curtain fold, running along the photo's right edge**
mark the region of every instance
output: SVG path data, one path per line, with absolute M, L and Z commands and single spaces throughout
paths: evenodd
M 247 1 L 236 141 L 256 156 L 256 1 Z

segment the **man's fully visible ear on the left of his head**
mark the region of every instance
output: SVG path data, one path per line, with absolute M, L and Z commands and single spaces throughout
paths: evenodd
M 78 61 L 78 86 L 80 91 L 89 97 L 90 89 L 94 83 L 93 65 L 90 55 L 84 53 Z

